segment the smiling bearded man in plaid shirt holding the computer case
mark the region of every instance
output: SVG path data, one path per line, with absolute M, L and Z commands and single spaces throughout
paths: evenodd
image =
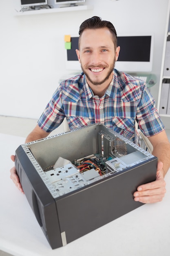
M 137 143 L 137 121 L 159 161 L 156 180 L 139 186 L 134 200 L 159 202 L 166 193 L 170 143 L 146 84 L 114 69 L 119 51 L 112 23 L 97 16 L 85 20 L 76 50 L 83 73 L 60 84 L 26 142 L 48 136 L 66 117 L 70 129 L 101 122 Z M 14 167 L 11 179 L 23 192 Z

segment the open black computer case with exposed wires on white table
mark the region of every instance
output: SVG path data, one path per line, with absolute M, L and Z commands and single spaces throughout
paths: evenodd
M 20 145 L 15 167 L 55 249 L 140 207 L 133 193 L 155 180 L 157 157 L 94 124 Z

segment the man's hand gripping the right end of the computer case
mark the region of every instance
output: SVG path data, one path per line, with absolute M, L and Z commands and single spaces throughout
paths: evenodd
M 134 200 L 141 203 L 155 203 L 162 201 L 166 193 L 166 182 L 163 178 L 163 163 L 158 162 L 157 177 L 154 182 L 143 184 L 133 194 Z

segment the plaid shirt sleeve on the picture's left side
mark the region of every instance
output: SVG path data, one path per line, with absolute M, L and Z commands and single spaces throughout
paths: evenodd
M 54 92 L 53 97 L 47 104 L 44 112 L 38 120 L 40 128 L 46 132 L 55 130 L 64 120 L 65 114 L 61 101 L 60 85 Z

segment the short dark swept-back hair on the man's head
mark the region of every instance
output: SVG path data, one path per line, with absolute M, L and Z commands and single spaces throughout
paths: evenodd
M 103 28 L 103 27 L 107 27 L 110 32 L 113 35 L 113 43 L 115 45 L 115 49 L 117 47 L 117 33 L 116 33 L 116 29 L 113 26 L 113 24 L 110 21 L 107 20 L 102 20 L 100 17 L 98 16 L 93 16 L 92 18 L 89 18 L 87 20 L 84 20 L 84 22 L 82 22 L 82 24 L 79 27 L 79 40 L 81 38 L 81 34 L 85 29 L 99 29 L 99 28 Z

